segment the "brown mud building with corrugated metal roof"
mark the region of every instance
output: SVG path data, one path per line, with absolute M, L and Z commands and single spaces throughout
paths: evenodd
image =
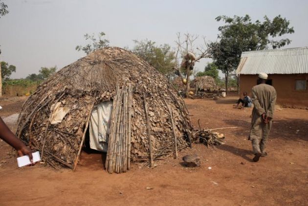
M 308 108 L 308 47 L 243 52 L 236 70 L 240 94 L 251 95 L 260 72 L 268 74 L 278 104 Z

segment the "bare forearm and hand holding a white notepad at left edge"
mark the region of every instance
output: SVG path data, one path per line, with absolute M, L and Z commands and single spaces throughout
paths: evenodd
M 28 155 L 32 161 L 32 151 L 6 126 L 0 117 L 0 138 L 17 150 L 19 156 Z

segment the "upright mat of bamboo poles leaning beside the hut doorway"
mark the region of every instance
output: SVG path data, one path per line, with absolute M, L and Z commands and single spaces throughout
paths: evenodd
M 109 173 L 122 173 L 131 163 L 132 86 L 117 85 L 111 114 L 106 169 Z

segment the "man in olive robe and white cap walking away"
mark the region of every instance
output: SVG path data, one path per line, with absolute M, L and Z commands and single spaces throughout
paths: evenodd
M 258 85 L 252 88 L 252 110 L 251 130 L 248 140 L 251 140 L 252 149 L 255 154 L 253 161 L 259 161 L 265 157 L 266 142 L 272 126 L 272 119 L 276 103 L 276 90 L 265 84 L 267 74 L 260 73 Z

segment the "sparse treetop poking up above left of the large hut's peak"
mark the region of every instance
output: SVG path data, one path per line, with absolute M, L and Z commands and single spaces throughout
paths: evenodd
M 76 46 L 75 49 L 77 51 L 84 51 L 86 54 L 89 54 L 90 52 L 94 51 L 95 49 L 98 48 L 103 48 L 106 46 L 109 46 L 109 40 L 108 39 L 104 39 L 103 37 L 105 36 L 104 32 L 100 32 L 98 33 L 98 39 L 96 39 L 94 37 L 94 34 L 89 35 L 89 34 L 85 34 L 84 37 L 86 40 L 90 40 L 90 44 L 87 44 L 86 46 Z

